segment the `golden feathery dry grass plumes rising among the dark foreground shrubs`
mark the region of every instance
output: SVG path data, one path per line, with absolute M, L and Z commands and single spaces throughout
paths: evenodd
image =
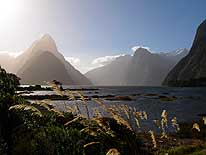
M 50 84 L 55 92 L 59 95 L 66 95 L 68 96 L 68 100 L 76 101 L 75 95 L 78 95 L 82 101 L 82 104 L 84 105 L 86 109 L 86 118 L 88 120 L 88 127 L 83 129 L 82 132 L 91 132 L 91 121 L 95 121 L 96 124 L 98 125 L 99 129 L 98 131 L 104 132 L 106 134 L 111 134 L 110 132 L 110 127 L 108 124 L 102 123 L 101 119 L 104 117 L 100 110 L 97 108 L 93 109 L 93 116 L 91 117 L 89 114 L 89 108 L 87 104 L 87 100 L 84 97 L 83 92 L 79 91 L 61 91 L 57 85 L 55 84 Z M 149 116 L 146 111 L 137 111 L 136 108 L 134 107 L 129 107 L 128 105 L 122 104 L 122 105 L 106 105 L 103 100 L 97 99 L 97 98 L 92 98 L 92 101 L 97 103 L 101 109 L 109 114 L 114 120 L 117 121 L 117 123 L 124 125 L 127 127 L 129 130 L 131 130 L 134 133 L 138 133 L 141 129 L 141 121 L 148 121 Z M 84 114 L 81 112 L 78 104 L 75 104 L 76 108 L 67 106 L 67 111 L 76 114 L 76 118 L 71 120 L 70 122 L 67 122 L 65 125 L 69 125 L 72 122 L 77 121 L 80 117 L 85 117 Z M 206 117 L 203 117 L 202 119 L 204 121 L 204 124 L 206 125 Z M 166 110 L 163 110 L 161 113 L 161 119 L 155 119 L 153 120 L 153 123 L 156 125 L 158 130 L 161 131 L 161 136 L 160 139 L 168 139 L 168 133 L 167 133 L 167 128 L 168 125 L 171 124 L 172 127 L 178 132 L 180 130 L 178 121 L 176 117 L 173 117 L 171 120 L 168 120 L 168 113 Z M 193 129 L 196 129 L 198 132 L 200 132 L 199 125 L 197 123 L 193 124 Z M 90 131 L 91 130 L 91 131 Z M 150 130 L 149 131 L 150 137 L 151 137 L 151 143 L 153 144 L 154 148 L 157 148 L 157 142 L 156 142 L 156 137 L 154 131 Z M 90 144 L 87 144 L 85 147 L 89 145 L 94 145 L 99 142 L 91 142 Z M 119 155 L 118 150 L 110 149 L 107 153 L 107 155 Z

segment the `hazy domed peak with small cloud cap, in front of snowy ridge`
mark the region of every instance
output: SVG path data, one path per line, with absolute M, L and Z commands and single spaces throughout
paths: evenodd
M 173 61 L 139 48 L 135 51 L 129 65 L 128 85 L 158 86 L 171 67 L 173 67 Z

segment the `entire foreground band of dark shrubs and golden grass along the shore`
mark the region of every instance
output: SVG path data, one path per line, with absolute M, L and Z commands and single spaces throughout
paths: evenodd
M 205 117 L 199 122 L 178 124 L 177 118 L 168 120 L 164 110 L 154 120 L 159 134 L 144 133 L 141 121 L 148 119 L 145 111 L 127 105 L 107 106 L 93 98 L 109 118 L 98 109 L 90 116 L 87 100 L 78 90 L 62 90 L 57 83 L 49 83 L 54 91 L 66 99 L 81 100 L 86 112 L 78 104 L 65 105 L 58 111 L 49 100 L 29 103 L 15 92 L 19 78 L 0 68 L 0 154 L 68 154 L 68 155 L 149 155 L 198 154 L 206 152 Z M 76 102 L 75 102 L 76 103 Z M 176 134 L 168 134 L 171 123 Z

